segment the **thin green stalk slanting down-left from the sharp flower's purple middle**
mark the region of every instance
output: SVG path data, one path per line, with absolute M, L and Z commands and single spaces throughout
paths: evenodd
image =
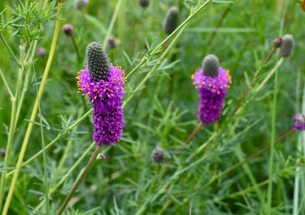
M 87 113 L 85 113 L 80 119 L 78 119 L 75 123 L 73 123 L 72 125 L 70 125 L 68 128 L 66 128 L 64 131 L 62 131 L 61 133 L 59 133 L 57 135 L 57 137 L 55 139 L 52 140 L 51 143 L 49 143 L 48 145 L 45 146 L 45 149 L 48 149 L 49 147 L 51 147 L 54 143 L 56 143 L 59 139 L 61 139 L 63 136 L 65 136 L 73 127 L 75 127 L 76 125 L 78 125 L 82 120 L 84 120 L 90 113 L 92 113 L 92 108 L 87 111 Z M 28 164 L 29 162 L 33 161 L 35 158 L 37 158 L 40 154 L 42 153 L 42 149 L 40 151 L 38 151 L 36 154 L 34 154 L 31 158 L 29 158 L 27 161 L 25 161 L 24 163 L 22 163 L 21 167 L 25 166 L 26 164 Z M 10 172 L 8 172 L 6 175 L 9 176 L 11 174 L 14 174 L 16 172 L 15 170 L 12 170 Z

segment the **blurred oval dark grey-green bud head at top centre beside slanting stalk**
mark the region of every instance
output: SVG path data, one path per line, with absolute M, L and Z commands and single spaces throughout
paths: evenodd
M 176 6 L 170 7 L 167 10 L 166 16 L 163 22 L 162 30 L 164 33 L 170 35 L 176 30 L 179 21 L 179 8 Z

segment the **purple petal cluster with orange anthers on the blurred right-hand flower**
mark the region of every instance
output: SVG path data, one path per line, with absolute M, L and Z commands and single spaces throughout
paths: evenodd
M 203 74 L 203 70 L 200 68 L 191 78 L 199 90 L 200 105 L 197 110 L 197 118 L 206 125 L 216 122 L 221 115 L 227 88 L 232 83 L 229 70 L 220 67 L 218 75 L 211 77 Z

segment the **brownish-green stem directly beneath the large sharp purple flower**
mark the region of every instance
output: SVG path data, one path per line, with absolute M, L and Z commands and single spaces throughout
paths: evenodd
M 100 152 L 100 147 L 96 147 L 94 153 L 92 154 L 89 162 L 87 163 L 83 173 L 80 175 L 80 178 L 77 180 L 77 182 L 75 183 L 75 185 L 73 186 L 72 190 L 70 191 L 70 193 L 68 194 L 68 196 L 66 197 L 65 201 L 62 203 L 60 209 L 57 212 L 57 215 L 61 215 L 61 213 L 65 210 L 69 200 L 72 198 L 73 194 L 75 193 L 76 189 L 78 188 L 78 186 L 80 185 L 80 183 L 83 181 L 83 179 L 85 178 L 86 174 L 88 173 L 89 169 L 91 168 L 93 162 L 96 160 L 97 155 Z

